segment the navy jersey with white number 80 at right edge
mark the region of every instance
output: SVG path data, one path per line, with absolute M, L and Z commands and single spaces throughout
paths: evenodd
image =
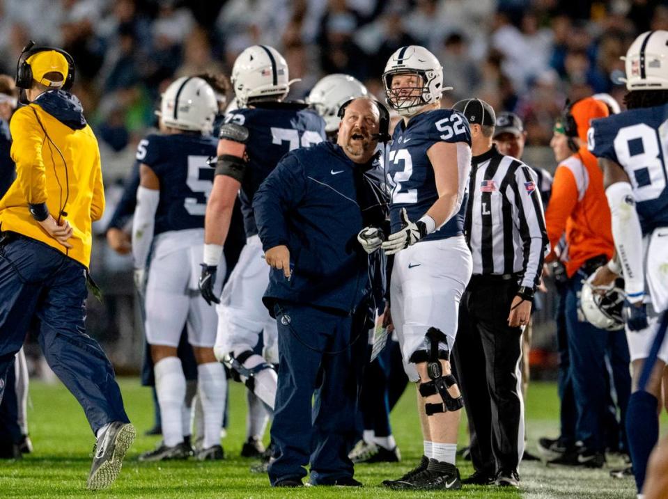
M 668 227 L 668 104 L 593 120 L 587 142 L 626 171 L 643 234 Z

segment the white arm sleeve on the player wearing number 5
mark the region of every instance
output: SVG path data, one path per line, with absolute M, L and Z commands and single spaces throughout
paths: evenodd
M 146 165 L 142 164 L 140 168 L 142 177 L 147 173 L 146 171 L 150 175 L 155 175 Z M 134 210 L 134 219 L 132 219 L 132 257 L 136 269 L 146 267 L 150 245 L 153 242 L 155 212 L 157 212 L 158 203 L 160 203 L 160 190 L 150 189 L 140 184 L 137 189 L 137 209 Z

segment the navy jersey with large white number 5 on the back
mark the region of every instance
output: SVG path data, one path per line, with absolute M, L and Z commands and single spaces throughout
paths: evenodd
M 206 160 L 216 155 L 216 146 L 215 137 L 194 134 L 148 135 L 139 142 L 137 161 L 160 180 L 155 235 L 204 227 L 214 173 Z

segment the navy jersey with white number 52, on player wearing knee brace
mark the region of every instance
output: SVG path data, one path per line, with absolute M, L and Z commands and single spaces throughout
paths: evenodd
M 401 230 L 399 213 L 402 208 L 406 209 L 410 221 L 417 221 L 438 199 L 434 168 L 427 157 L 427 151 L 437 142 L 471 145 L 469 122 L 463 114 L 451 109 L 436 109 L 413 116 L 407 126 L 403 120 L 396 125 L 387 161 L 388 173 L 394 183 L 390 207 L 392 232 Z M 466 184 L 460 182 L 463 188 Z M 464 233 L 466 196 L 463 194 L 462 198 L 459 212 L 423 241 Z

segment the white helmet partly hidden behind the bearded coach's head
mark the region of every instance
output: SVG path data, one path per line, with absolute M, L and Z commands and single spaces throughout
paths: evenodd
M 349 74 L 328 74 L 313 86 L 306 102 L 325 119 L 325 132 L 339 130 L 339 108 L 355 97 L 366 97 L 368 90 Z

